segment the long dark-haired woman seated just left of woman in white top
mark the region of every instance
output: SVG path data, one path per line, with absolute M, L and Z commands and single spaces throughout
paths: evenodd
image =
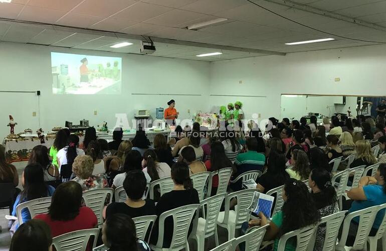
M 38 163 L 43 167 L 44 181 L 56 181 L 59 179 L 58 168 L 51 164 L 46 146 L 38 145 L 32 149 L 28 164 Z

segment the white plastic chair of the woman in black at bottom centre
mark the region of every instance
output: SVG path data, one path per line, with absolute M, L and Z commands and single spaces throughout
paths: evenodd
M 163 212 L 159 216 L 159 230 L 158 230 L 158 240 L 155 245 L 150 244 L 150 248 L 154 251 L 178 251 L 185 248 L 186 251 L 189 251 L 189 244 L 187 242 L 187 234 L 189 226 L 194 214 L 197 212 L 200 204 L 192 204 L 187 206 L 177 207 L 175 209 Z M 163 228 L 165 219 L 171 217 L 173 219 L 173 234 L 171 238 L 170 247 L 163 248 L 163 233 L 165 229 Z M 166 229 L 171 231 L 171 229 Z

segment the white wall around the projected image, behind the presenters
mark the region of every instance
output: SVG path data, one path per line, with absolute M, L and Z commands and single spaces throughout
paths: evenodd
M 120 95 L 54 95 L 52 94 L 51 51 L 86 55 L 122 57 L 122 93 Z M 171 98 L 176 101 L 180 118 L 187 113 L 206 110 L 210 63 L 161 57 L 106 53 L 46 46 L 0 43 L 0 90 L 41 91 L 40 124 L 47 132 L 54 126 L 64 127 L 65 120 L 79 124 L 88 119 L 91 125 L 106 120 L 115 125 L 115 113 L 127 113 L 129 121 L 137 108 L 148 108 L 155 118 L 156 107 L 166 107 Z M 131 93 L 201 94 L 202 96 L 131 95 Z M 34 93 L 0 93 L 0 136 L 9 134 L 8 115 L 19 123 L 15 132 L 38 129 L 38 97 Z M 97 110 L 97 115 L 94 115 Z

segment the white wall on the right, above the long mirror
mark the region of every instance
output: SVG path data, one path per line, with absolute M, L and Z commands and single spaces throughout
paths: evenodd
M 290 53 L 211 63 L 211 93 L 266 98 L 213 99 L 216 105 L 244 102 L 247 117 L 280 117 L 281 94 L 384 95 L 386 45 Z M 340 81 L 335 82 L 334 78 Z M 239 81 L 242 81 L 239 84 Z M 310 105 L 310 104 L 308 104 Z M 348 106 L 347 106 L 348 108 Z M 339 108 L 337 108 L 339 109 Z M 346 111 L 346 107 L 340 108 Z M 351 111 L 355 106 L 351 105 Z

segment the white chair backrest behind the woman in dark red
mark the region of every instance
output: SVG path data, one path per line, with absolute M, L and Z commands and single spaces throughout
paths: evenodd
M 96 246 L 98 235 L 99 229 L 97 228 L 83 229 L 56 236 L 52 239 L 52 244 L 56 250 L 85 251 L 91 236 L 94 236 L 94 241 L 91 248 Z

